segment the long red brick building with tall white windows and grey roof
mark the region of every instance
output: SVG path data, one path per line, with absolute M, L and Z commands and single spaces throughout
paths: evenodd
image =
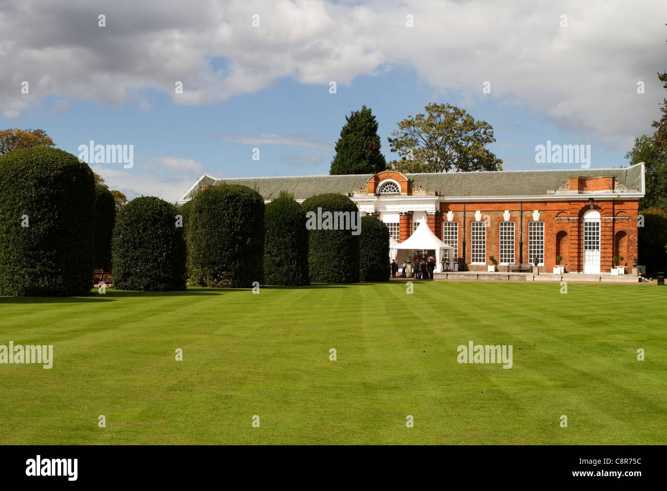
M 181 204 L 221 182 L 202 176 Z M 459 271 L 487 271 L 490 265 L 508 271 L 537 258 L 540 271 L 552 272 L 560 256 L 565 273 L 610 273 L 614 257 L 623 257 L 619 265 L 630 273 L 637 256 L 644 165 L 441 174 L 387 170 L 224 182 L 255 188 L 267 202 L 281 190 L 292 192 L 299 202 L 322 192 L 346 194 L 360 212 L 383 220 L 399 242 L 425 221 L 455 248 L 450 259 Z

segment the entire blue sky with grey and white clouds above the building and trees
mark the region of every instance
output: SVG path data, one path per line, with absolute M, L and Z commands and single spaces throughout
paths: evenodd
M 204 173 L 327 174 L 363 104 L 387 160 L 396 122 L 448 102 L 505 170 L 579 167 L 536 164 L 547 140 L 618 167 L 667 96 L 666 22 L 664 0 L 0 0 L 0 128 L 131 144 L 132 168 L 93 169 L 171 201 Z

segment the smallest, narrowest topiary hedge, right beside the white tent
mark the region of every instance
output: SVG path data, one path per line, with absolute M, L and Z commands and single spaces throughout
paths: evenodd
M 359 273 L 360 281 L 389 281 L 389 228 L 374 216 L 362 216 Z

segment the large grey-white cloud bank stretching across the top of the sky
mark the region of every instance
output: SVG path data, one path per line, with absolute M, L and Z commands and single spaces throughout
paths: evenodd
M 665 94 L 656 77 L 665 69 L 664 0 L 632 8 L 624 0 L 205 0 L 185 9 L 177 0 L 145 0 L 141 9 L 117 0 L 105 5 L 107 27 L 97 26 L 98 10 L 87 0 L 0 3 L 5 116 L 49 94 L 120 105 L 150 89 L 177 104 L 215 104 L 282 77 L 327 86 L 400 66 L 466 108 L 481 98 L 522 104 L 627 148 L 650 130 Z M 255 13 L 260 27 L 251 25 Z M 563 13 L 568 27 L 559 25 Z M 213 70 L 214 57 L 224 69 Z M 491 94 L 482 94 L 484 81 Z

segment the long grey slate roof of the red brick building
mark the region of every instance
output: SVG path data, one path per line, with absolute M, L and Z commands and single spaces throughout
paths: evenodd
M 213 179 L 203 176 L 198 185 L 193 186 L 184 200 L 193 197 L 202 184 L 217 185 L 242 184 L 254 188 L 265 200 L 277 198 L 281 190 L 294 194 L 297 200 L 303 200 L 322 192 L 349 194 L 355 188 L 364 187 L 372 174 L 345 176 L 294 176 L 294 177 L 249 177 Z M 642 165 L 626 168 L 565 169 L 565 170 L 514 170 L 498 172 L 443 172 L 428 174 L 406 174 L 413 180 L 413 186 L 424 186 L 430 191 L 437 191 L 445 197 L 512 197 L 546 196 L 560 188 L 570 176 L 595 177 L 616 176 L 616 182 L 627 189 L 616 192 L 640 192 L 642 187 Z

